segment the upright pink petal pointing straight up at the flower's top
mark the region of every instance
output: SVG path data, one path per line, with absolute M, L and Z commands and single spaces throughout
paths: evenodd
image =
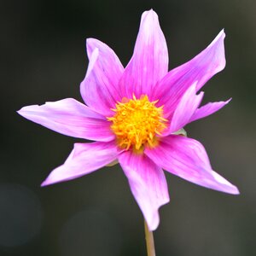
M 168 71 L 166 38 L 161 31 L 158 16 L 151 9 L 142 15 L 131 61 L 120 80 L 122 96 L 137 98 L 148 95 Z

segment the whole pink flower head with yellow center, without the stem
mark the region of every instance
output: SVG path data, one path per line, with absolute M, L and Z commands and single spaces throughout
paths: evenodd
M 62 166 L 42 186 L 81 177 L 118 160 L 138 206 L 155 230 L 159 207 L 169 201 L 167 172 L 230 194 L 236 186 L 212 171 L 205 148 L 183 136 L 183 127 L 226 102 L 199 107 L 208 79 L 224 69 L 224 31 L 191 61 L 168 72 L 166 39 L 151 9 L 142 15 L 131 61 L 124 68 L 108 45 L 86 41 L 89 67 L 80 85 L 83 103 L 72 98 L 21 108 L 18 113 L 67 136 L 96 141 L 75 143 Z

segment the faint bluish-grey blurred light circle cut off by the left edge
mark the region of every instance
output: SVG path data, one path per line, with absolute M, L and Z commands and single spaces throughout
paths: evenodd
M 31 241 L 41 229 L 42 215 L 32 190 L 0 183 L 0 246 L 15 247 Z

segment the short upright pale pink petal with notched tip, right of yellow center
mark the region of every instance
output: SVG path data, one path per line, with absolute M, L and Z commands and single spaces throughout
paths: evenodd
M 189 120 L 199 107 L 203 97 L 203 92 L 196 95 L 196 83 L 193 84 L 189 90 L 187 90 L 181 101 L 178 103 L 175 112 L 173 113 L 171 125 L 168 129 L 168 133 L 172 133 L 182 129 L 189 123 Z

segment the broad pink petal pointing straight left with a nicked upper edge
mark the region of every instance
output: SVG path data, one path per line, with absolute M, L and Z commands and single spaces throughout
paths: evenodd
M 110 122 L 74 99 L 46 102 L 21 108 L 20 115 L 71 137 L 108 142 L 114 139 Z

